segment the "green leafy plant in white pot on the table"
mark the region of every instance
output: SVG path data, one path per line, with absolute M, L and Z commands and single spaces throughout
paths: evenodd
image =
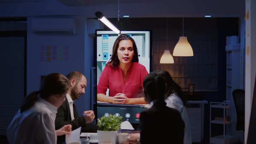
M 118 129 L 121 128 L 122 117 L 115 115 L 103 116 L 98 118 L 98 142 L 115 144 L 117 140 Z

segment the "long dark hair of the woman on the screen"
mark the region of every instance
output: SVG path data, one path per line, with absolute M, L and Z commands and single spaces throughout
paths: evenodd
M 117 50 L 118 50 L 118 46 L 119 46 L 119 43 L 120 43 L 121 40 L 131 40 L 132 45 L 133 45 L 133 50 L 134 50 L 134 56 L 133 56 L 131 62 L 139 62 L 138 49 L 137 49 L 137 46 L 135 44 L 134 39 L 132 39 L 130 36 L 128 36 L 126 34 L 121 34 L 120 36 L 118 36 L 115 39 L 115 43 L 114 43 L 113 50 L 112 50 L 112 56 L 109 59 L 106 66 L 111 66 L 114 69 L 119 66 L 119 59 L 118 59 L 118 56 L 117 56 Z

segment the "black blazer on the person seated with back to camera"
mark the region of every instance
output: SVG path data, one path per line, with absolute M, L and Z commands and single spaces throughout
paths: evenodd
M 166 103 L 155 103 L 142 111 L 141 144 L 183 144 L 185 124 L 181 114 Z

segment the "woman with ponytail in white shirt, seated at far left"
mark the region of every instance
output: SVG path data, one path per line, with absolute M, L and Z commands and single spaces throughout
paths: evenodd
M 56 144 L 56 135 L 70 134 L 71 125 L 55 131 L 57 108 L 65 101 L 69 80 L 62 74 L 46 76 L 40 91 L 30 93 L 7 128 L 10 144 Z

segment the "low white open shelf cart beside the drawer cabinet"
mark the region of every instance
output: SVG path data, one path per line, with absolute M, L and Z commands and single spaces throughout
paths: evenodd
M 212 108 L 219 108 L 223 110 L 223 121 L 212 119 Z M 226 134 L 226 124 L 230 124 L 230 121 L 226 121 L 226 110 L 230 106 L 224 102 L 210 102 L 210 144 L 230 144 L 235 141 L 235 137 Z M 212 124 L 223 124 L 223 134 L 212 137 Z

